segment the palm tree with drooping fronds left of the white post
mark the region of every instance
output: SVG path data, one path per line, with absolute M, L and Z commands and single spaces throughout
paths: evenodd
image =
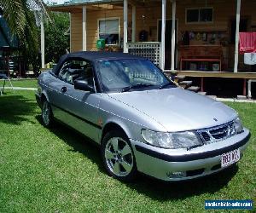
M 0 0 L 0 8 L 10 31 L 18 38 L 21 55 L 38 72 L 39 33 L 34 11 L 40 10 L 49 18 L 43 0 Z

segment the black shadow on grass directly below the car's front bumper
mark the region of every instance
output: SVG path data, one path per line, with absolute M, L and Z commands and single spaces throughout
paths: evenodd
M 180 182 L 164 182 L 140 176 L 136 182 L 129 183 L 128 187 L 159 201 L 186 199 L 203 193 L 218 192 L 228 185 L 237 170 L 238 166 L 234 165 L 211 176 Z

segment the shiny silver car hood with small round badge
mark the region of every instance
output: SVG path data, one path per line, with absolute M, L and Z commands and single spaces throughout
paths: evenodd
M 237 116 L 236 111 L 221 102 L 179 88 L 108 95 L 148 115 L 170 132 L 201 130 L 225 124 Z

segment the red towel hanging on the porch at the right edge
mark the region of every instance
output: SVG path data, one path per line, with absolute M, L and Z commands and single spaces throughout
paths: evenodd
M 239 32 L 239 52 L 256 53 L 256 32 Z

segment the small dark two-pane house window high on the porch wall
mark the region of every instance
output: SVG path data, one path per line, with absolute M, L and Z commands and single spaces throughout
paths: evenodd
M 187 23 L 206 23 L 213 21 L 213 9 L 186 9 Z

